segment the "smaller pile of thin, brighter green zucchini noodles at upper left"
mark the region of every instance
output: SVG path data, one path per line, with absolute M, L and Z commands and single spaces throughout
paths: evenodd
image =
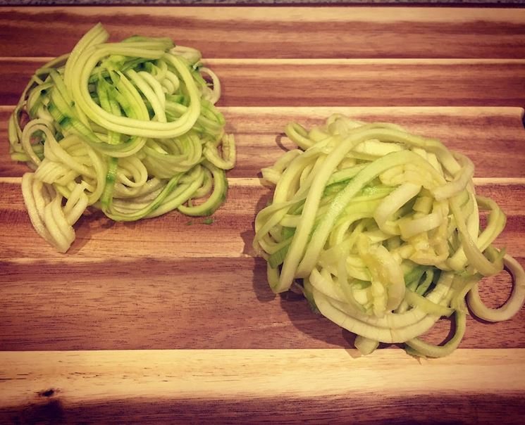
M 213 214 L 235 165 L 215 106 L 221 85 L 201 53 L 167 38 L 108 38 L 95 25 L 39 68 L 8 123 L 11 158 L 32 170 L 22 179 L 31 222 L 63 253 L 89 206 L 118 221 Z

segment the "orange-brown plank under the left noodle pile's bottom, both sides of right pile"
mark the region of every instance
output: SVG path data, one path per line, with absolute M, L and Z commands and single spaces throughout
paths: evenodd
M 489 181 L 490 182 L 490 181 Z M 57 254 L 41 241 L 32 229 L 20 194 L 20 184 L 0 180 L 0 234 L 14 238 L 0 240 L 0 259 L 27 262 L 35 259 L 50 264 L 92 262 L 112 258 L 116 246 L 132 246 L 121 253 L 121 260 L 137 258 L 240 258 L 254 255 L 251 247 L 253 220 L 271 198 L 271 190 L 256 179 L 230 179 L 226 202 L 212 216 L 212 224 L 202 218 L 173 212 L 138 222 L 113 222 L 96 210 L 82 216 L 75 225 L 77 237 L 67 254 Z M 488 194 L 508 215 L 507 231 L 498 242 L 509 247 L 509 253 L 520 255 L 522 240 L 525 185 L 485 183 L 477 186 L 478 194 Z M 191 222 L 191 225 L 190 225 Z M 140 231 L 137 231 L 140 229 Z M 203 243 L 206 241 L 206 243 Z

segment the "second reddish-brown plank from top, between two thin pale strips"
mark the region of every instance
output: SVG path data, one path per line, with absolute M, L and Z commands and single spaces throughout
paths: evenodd
M 0 58 L 15 105 L 44 58 Z M 525 59 L 210 59 L 220 106 L 517 106 Z M 321 77 L 322 76 L 322 77 Z

